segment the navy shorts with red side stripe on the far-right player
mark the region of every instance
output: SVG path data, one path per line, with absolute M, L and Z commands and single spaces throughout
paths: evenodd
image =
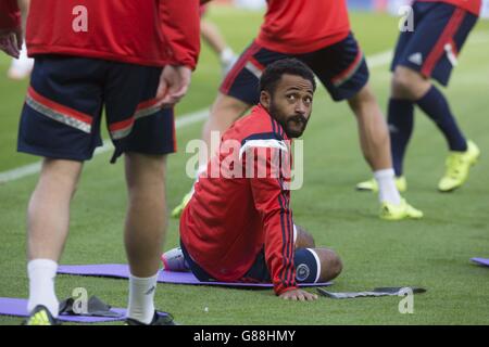
M 447 86 L 478 17 L 443 2 L 413 4 L 414 31 L 401 33 L 391 70 L 409 67 Z

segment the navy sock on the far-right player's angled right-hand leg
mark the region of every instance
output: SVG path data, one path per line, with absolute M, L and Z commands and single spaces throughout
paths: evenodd
M 417 101 L 417 105 L 437 124 L 447 139 L 450 151 L 467 151 L 467 141 L 456 125 L 448 101 L 435 86 Z

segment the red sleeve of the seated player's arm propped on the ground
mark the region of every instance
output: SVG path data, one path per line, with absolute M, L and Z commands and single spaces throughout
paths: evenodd
M 255 174 L 259 174 L 263 167 L 267 169 L 265 178 L 255 175 L 256 178 L 251 178 L 250 181 L 254 206 L 263 221 L 266 265 L 275 293 L 280 295 L 297 288 L 293 265 L 293 221 L 289 206 L 290 191 L 285 189 L 285 179 L 281 174 L 278 174 L 281 172 L 280 165 L 284 165 L 284 160 L 277 159 L 277 155 L 284 155 L 284 150 L 267 149 L 266 154 L 263 154 L 263 149 L 253 150 Z M 250 159 L 249 154 L 251 151 L 247 152 L 247 157 Z M 289 154 L 286 153 L 286 155 Z

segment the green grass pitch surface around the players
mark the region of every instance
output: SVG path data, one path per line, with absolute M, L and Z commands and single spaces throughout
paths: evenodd
M 210 18 L 239 52 L 258 31 L 261 15 L 212 8 Z M 367 55 L 393 47 L 394 17 L 353 13 L 352 24 Z M 489 269 L 472 265 L 471 257 L 489 257 L 489 164 L 487 110 L 489 100 L 489 23 L 479 23 L 461 56 L 447 90 L 453 111 L 467 136 L 482 151 L 482 160 L 468 183 L 452 194 L 436 191 L 447 154 L 444 140 L 427 118 L 417 114 L 406 156 L 408 200 L 425 211 L 422 221 L 385 222 L 377 218 L 376 196 L 358 193 L 354 184 L 368 178 L 356 136 L 355 120 L 344 103 L 335 104 L 323 89 L 304 137 L 303 189 L 292 193 L 294 221 L 309 229 L 318 245 L 335 248 L 343 273 L 333 291 L 363 291 L 375 286 L 417 285 L 428 293 L 415 296 L 414 313 L 398 311 L 399 297 L 287 303 L 272 291 L 159 285 L 156 306 L 184 324 L 488 324 Z M 8 60 L 0 59 L 0 76 Z M 0 80 L 0 171 L 37 158 L 15 154 L 18 112 L 26 82 Z M 178 106 L 185 114 L 209 106 L 218 87 L 217 60 L 203 48 L 188 98 Z M 385 108 L 388 66 L 372 70 L 372 83 Z M 187 192 L 185 144 L 200 134 L 201 124 L 178 131 L 180 151 L 168 160 L 168 206 Z M 126 208 L 122 160 L 109 165 L 110 154 L 87 163 L 72 207 L 71 233 L 62 264 L 125 262 L 122 228 Z M 0 296 L 26 297 L 25 210 L 36 177 L 0 185 Z M 165 249 L 177 244 L 177 221 L 171 220 Z M 115 307 L 126 305 L 127 282 L 61 275 L 59 298 L 75 287 L 87 288 Z M 204 311 L 208 307 L 209 311 Z M 18 318 L 0 317 L 0 324 Z

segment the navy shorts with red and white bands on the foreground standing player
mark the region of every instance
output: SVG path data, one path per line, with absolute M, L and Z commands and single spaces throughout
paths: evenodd
M 36 56 L 17 150 L 87 160 L 102 144 L 102 111 L 114 159 L 124 152 L 175 152 L 173 110 L 155 107 L 161 67 L 97 59 Z

